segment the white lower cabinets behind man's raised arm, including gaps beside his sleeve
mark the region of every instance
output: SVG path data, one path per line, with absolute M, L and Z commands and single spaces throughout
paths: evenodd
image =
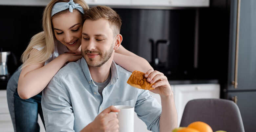
M 198 98 L 220 98 L 219 84 L 179 84 L 171 85 L 171 87 L 178 114 L 178 126 L 180 126 L 183 110 L 189 100 Z M 160 95 L 152 92 L 150 92 L 150 95 L 156 98 L 161 104 Z M 137 117 L 136 113 L 134 115 L 134 131 L 150 132 L 147 130 L 146 124 Z

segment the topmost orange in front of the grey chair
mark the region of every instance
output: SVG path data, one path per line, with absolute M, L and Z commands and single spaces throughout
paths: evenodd
M 193 122 L 193 123 L 189 124 L 187 127 L 194 128 L 194 129 L 198 130 L 199 132 L 213 132 L 212 128 L 208 124 L 206 124 L 204 122 L 200 122 L 200 121 Z

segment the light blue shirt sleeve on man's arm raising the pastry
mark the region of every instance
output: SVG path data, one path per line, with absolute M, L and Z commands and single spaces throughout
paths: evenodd
M 159 132 L 160 115 L 162 112 L 161 105 L 149 94 L 148 90 L 141 90 L 139 92 L 135 112 L 139 119 L 147 125 L 148 130 Z

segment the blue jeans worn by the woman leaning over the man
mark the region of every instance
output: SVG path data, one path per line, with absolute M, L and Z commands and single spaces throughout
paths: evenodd
M 21 99 L 17 93 L 19 75 L 20 71 L 15 71 L 8 81 L 6 89 L 8 108 L 14 132 L 39 132 L 40 128 L 37 123 L 38 113 L 44 123 L 41 107 L 42 92 L 29 99 Z

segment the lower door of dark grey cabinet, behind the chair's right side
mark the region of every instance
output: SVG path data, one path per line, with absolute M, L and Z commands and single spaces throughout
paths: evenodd
M 227 99 L 232 100 L 235 96 L 237 96 L 237 106 L 241 112 L 245 132 L 255 132 L 256 92 L 229 92 L 227 94 Z

